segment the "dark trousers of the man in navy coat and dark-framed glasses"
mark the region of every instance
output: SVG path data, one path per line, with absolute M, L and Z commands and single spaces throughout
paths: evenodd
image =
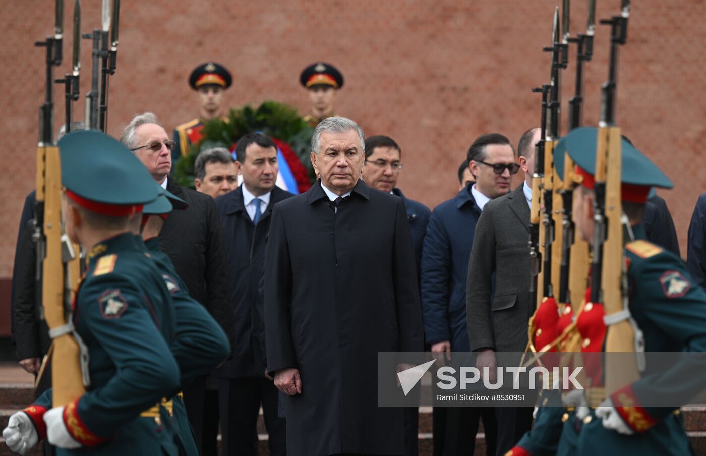
M 472 456 L 476 449 L 478 423 L 483 421 L 486 455 L 496 454 L 496 417 L 493 407 L 434 407 L 434 456 Z M 504 454 L 504 453 L 503 453 Z

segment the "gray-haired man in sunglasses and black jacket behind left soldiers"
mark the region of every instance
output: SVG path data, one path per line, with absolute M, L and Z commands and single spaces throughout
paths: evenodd
M 120 142 L 145 165 L 163 188 L 189 204 L 174 211 L 164 222 L 160 249 L 174 263 L 189 295 L 203 304 L 233 340 L 232 304 L 229 301 L 228 265 L 220 220 L 213 198 L 184 188 L 169 178 L 174 141 L 151 112 L 133 117 L 124 128 Z M 207 377 L 184 389 L 184 404 L 193 427 L 196 444 L 203 455 L 216 453 L 218 435 L 218 395 L 215 385 L 207 391 Z

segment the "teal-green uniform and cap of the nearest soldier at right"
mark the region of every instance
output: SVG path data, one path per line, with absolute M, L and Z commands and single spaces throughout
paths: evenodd
M 565 152 L 585 176 L 584 186 L 592 188 L 595 169 L 596 128 L 577 128 L 563 138 L 554 150 L 554 164 L 563 169 Z M 626 140 L 622 144 L 622 192 L 624 201 L 644 203 L 651 186 L 670 188 L 657 167 Z M 645 352 L 705 352 L 706 292 L 695 285 L 681 258 L 645 241 L 642 224 L 633 225 L 633 239 L 626 239 L 624 256 L 628 263 L 630 314 L 645 340 Z M 581 320 L 602 304 L 589 303 L 578 315 Z M 588 320 L 588 319 L 587 319 Z M 602 325 L 602 328 L 597 326 Z M 577 325 L 582 328 L 582 325 Z M 592 328 L 587 328 L 592 327 Z M 605 334 L 603 318 L 594 318 L 583 331 Z M 586 352 L 602 351 L 604 340 L 588 340 Z M 649 368 L 649 366 L 648 366 Z M 578 419 L 573 408 L 540 409 L 534 428 L 508 454 L 520 455 L 688 455 L 690 446 L 681 415 L 674 407 L 643 407 L 650 397 L 698 394 L 706 378 L 702 370 L 677 363 L 669 371 L 645 372 L 640 380 L 614 392 L 602 404 L 614 407 L 632 435 L 604 427 L 594 408 Z M 557 440 L 557 436 L 561 435 Z

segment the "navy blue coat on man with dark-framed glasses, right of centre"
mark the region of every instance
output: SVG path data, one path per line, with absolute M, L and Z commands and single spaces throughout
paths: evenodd
M 466 281 L 481 210 L 471 185 L 431 212 L 421 253 L 421 311 L 426 343 L 450 340 L 454 352 L 469 352 Z

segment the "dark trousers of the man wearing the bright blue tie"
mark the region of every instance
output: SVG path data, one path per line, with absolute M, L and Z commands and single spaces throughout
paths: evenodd
M 277 416 L 277 388 L 266 378 L 220 378 L 223 456 L 257 456 L 258 413 L 263 407 L 270 456 L 287 455 L 285 419 Z

